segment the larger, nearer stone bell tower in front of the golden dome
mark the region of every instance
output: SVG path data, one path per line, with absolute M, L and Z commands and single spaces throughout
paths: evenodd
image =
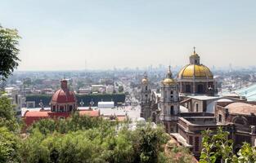
M 166 78 L 161 83 L 160 110 L 159 119 L 164 122 L 166 132 L 177 132 L 177 117 L 180 113 L 179 93 L 170 66 Z

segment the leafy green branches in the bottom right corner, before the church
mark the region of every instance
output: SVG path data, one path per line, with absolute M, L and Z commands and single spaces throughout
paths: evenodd
M 213 163 L 222 161 L 229 162 L 256 162 L 256 147 L 251 147 L 249 143 L 244 143 L 238 153 L 233 150 L 233 141 L 228 139 L 229 132 L 218 128 L 217 133 L 206 130 L 203 132 L 200 163 Z

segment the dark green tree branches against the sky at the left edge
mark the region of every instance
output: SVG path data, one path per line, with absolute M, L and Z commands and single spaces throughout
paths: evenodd
M 0 80 L 6 80 L 19 65 L 19 39 L 16 29 L 0 26 Z

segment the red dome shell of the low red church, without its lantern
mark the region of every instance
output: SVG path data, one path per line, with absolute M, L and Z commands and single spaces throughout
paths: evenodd
M 75 103 L 74 92 L 70 90 L 57 90 L 54 95 L 52 95 L 52 101 L 55 103 Z

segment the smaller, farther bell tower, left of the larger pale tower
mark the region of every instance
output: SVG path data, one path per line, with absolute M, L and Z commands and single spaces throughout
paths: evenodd
M 145 120 L 151 117 L 150 94 L 149 80 L 146 73 L 144 73 L 144 77 L 141 80 L 141 117 L 145 118 Z

